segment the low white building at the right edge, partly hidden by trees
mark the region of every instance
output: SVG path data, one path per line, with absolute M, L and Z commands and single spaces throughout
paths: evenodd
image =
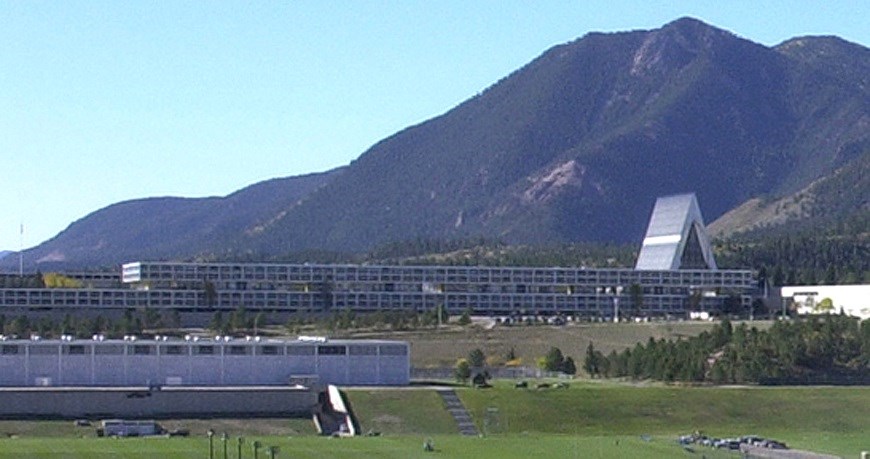
M 870 284 L 784 286 L 783 301 L 789 299 L 798 314 L 839 314 L 870 319 Z M 830 304 L 828 303 L 830 299 Z

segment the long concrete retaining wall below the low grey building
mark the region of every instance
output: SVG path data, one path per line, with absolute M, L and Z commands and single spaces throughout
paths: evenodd
M 309 416 L 317 391 L 292 387 L 0 389 L 0 418 Z

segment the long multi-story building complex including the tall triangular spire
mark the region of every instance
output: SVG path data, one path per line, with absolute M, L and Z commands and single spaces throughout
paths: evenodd
M 275 320 L 444 308 L 612 319 L 681 317 L 726 301 L 748 307 L 755 287 L 751 271 L 717 269 L 694 195 L 656 202 L 635 269 L 139 261 L 122 266 L 121 281 L 123 288 L 0 289 L 0 308 L 107 316 L 151 308 L 200 318 L 245 308 Z

